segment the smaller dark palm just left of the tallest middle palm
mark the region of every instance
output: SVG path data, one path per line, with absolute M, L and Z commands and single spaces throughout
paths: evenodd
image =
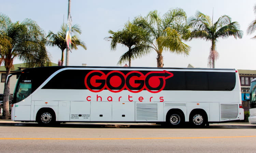
M 131 67 L 132 59 L 140 58 L 148 53 L 149 46 L 145 44 L 145 40 L 148 39 L 148 34 L 141 27 L 127 22 L 123 30 L 117 32 L 109 30 L 109 33 L 112 34 L 112 36 L 106 38 L 111 41 L 111 50 L 116 50 L 117 44 L 128 47 L 128 51 L 120 57 L 118 61 L 119 65 L 128 61 L 129 67 Z

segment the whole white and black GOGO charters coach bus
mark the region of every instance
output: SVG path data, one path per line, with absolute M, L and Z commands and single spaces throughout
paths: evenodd
M 19 73 L 11 118 L 200 127 L 243 120 L 241 106 L 236 69 L 56 66 Z

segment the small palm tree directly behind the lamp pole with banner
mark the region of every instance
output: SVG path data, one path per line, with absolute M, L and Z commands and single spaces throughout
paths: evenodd
M 47 46 L 57 46 L 61 49 L 61 66 L 63 66 L 64 63 L 64 50 L 67 48 L 66 43 L 66 30 L 67 30 L 67 24 L 64 24 L 61 26 L 60 30 L 55 34 L 52 31 L 49 31 L 46 38 L 48 38 Z M 77 50 L 78 46 L 83 47 L 85 50 L 87 49 L 85 46 L 85 43 L 81 41 L 75 34 L 81 34 L 81 29 L 77 24 L 74 24 L 71 28 L 71 32 L 74 34 L 71 37 L 71 43 L 72 43 L 72 49 Z

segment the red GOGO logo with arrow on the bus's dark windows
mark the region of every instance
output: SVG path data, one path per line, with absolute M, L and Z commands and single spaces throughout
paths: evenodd
M 107 74 L 100 70 L 90 71 L 85 76 L 85 86 L 92 92 L 108 89 L 111 92 L 120 92 L 124 89 L 132 93 L 141 92 L 143 89 L 151 93 L 163 90 L 166 79 L 173 77 L 168 71 L 151 71 L 143 74 L 140 71 L 130 71 L 126 75 L 121 71 L 110 71 Z

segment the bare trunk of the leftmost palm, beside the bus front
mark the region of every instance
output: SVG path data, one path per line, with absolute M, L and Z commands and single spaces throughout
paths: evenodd
M 6 68 L 6 77 L 3 91 L 3 116 L 2 119 L 9 119 L 9 96 L 10 96 L 10 80 L 6 83 L 7 77 L 10 74 L 11 68 Z

